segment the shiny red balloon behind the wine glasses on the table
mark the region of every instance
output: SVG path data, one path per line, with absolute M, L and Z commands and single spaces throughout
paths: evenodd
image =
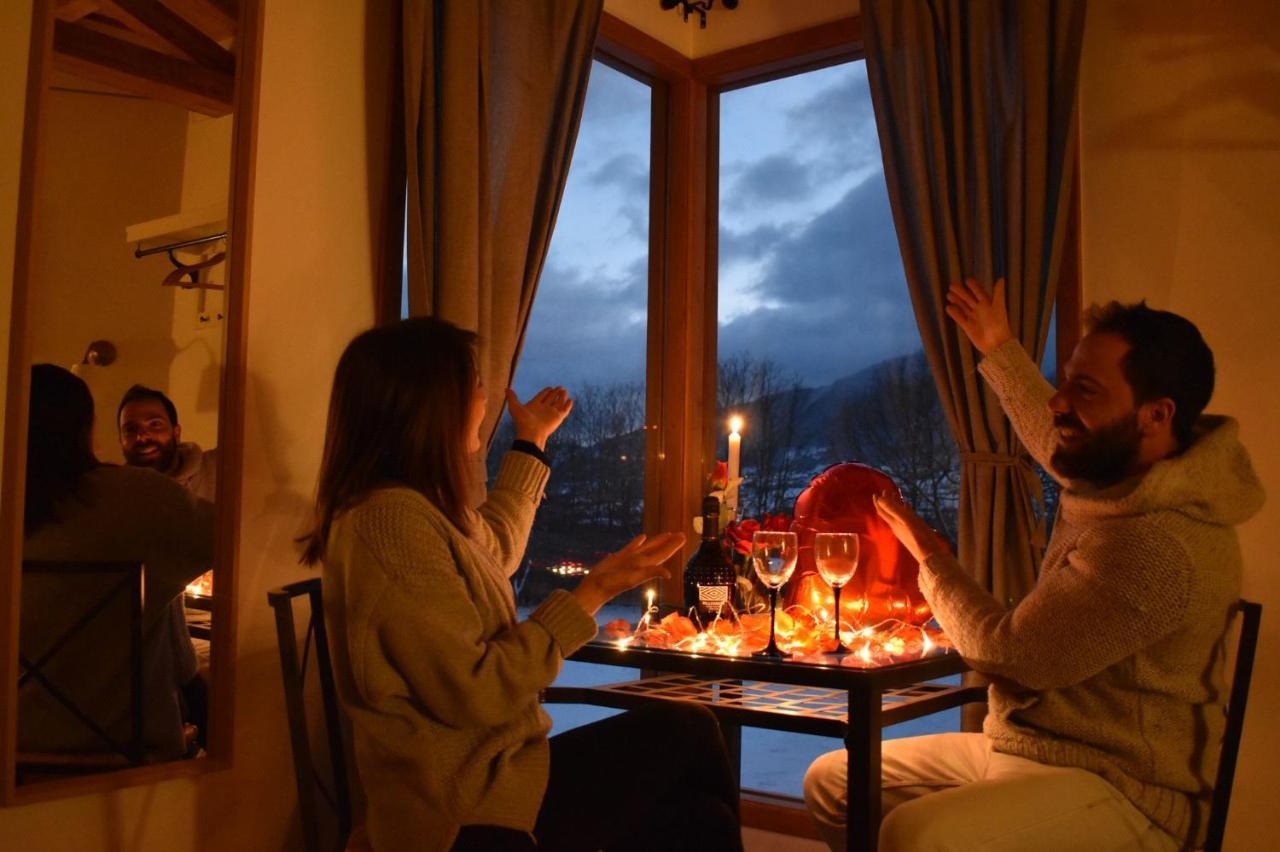
M 796 498 L 791 531 L 800 542 L 800 560 L 786 587 L 786 605 L 810 611 L 831 610 L 833 596 L 813 558 L 818 532 L 856 532 L 861 553 L 854 578 L 840 592 L 840 610 L 850 624 L 874 626 L 886 618 L 923 624 L 932 618 L 916 582 L 920 567 L 876 514 L 872 496 L 897 491 L 888 476 L 867 464 L 832 464 Z M 863 611 L 865 601 L 865 611 Z

